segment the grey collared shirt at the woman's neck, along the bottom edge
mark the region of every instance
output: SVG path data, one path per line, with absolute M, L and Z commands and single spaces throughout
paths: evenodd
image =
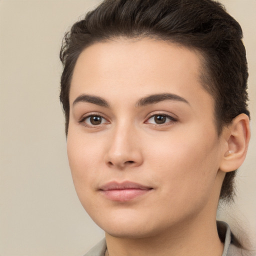
M 227 223 L 217 221 L 217 230 L 220 240 L 224 243 L 222 256 L 241 256 L 242 249 L 234 245 L 232 241 L 232 233 Z M 93 248 L 91 248 L 84 256 L 104 256 L 106 251 L 106 240 L 102 239 Z

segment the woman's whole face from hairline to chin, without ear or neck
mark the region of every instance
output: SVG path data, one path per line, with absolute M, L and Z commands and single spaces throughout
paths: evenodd
M 215 218 L 221 143 L 199 59 L 149 39 L 78 57 L 67 153 L 78 197 L 107 233 L 146 237 Z

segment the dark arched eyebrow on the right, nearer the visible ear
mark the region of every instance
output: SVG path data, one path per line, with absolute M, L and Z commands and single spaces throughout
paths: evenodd
M 140 98 L 136 102 L 135 106 L 139 107 L 139 106 L 145 106 L 145 105 L 149 105 L 149 104 L 156 104 L 156 103 L 158 103 L 160 101 L 164 101 L 164 100 L 181 101 L 181 102 L 184 102 L 184 103 L 187 103 L 188 105 L 190 105 L 189 102 L 185 98 L 180 97 L 176 94 L 160 93 L 160 94 L 152 94 L 152 95 Z

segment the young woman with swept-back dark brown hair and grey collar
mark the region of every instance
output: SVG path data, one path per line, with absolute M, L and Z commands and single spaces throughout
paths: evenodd
M 239 24 L 211 0 L 104 0 L 65 35 L 60 100 L 86 256 L 242 255 L 219 199 L 250 137 Z

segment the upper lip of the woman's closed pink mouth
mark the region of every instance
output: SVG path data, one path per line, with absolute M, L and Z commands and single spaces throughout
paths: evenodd
M 122 190 L 122 189 L 151 189 L 152 187 L 142 185 L 136 182 L 132 181 L 123 181 L 123 182 L 117 182 L 117 181 L 111 181 L 103 184 L 99 187 L 99 190 Z

